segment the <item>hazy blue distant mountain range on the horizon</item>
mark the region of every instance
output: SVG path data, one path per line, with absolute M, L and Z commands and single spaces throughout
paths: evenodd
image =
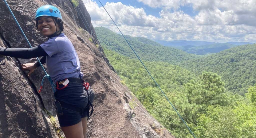
M 206 55 L 211 53 L 219 53 L 225 49 L 237 47 L 239 45 L 254 44 L 249 42 L 227 42 L 227 43 L 215 43 L 206 41 L 187 41 L 187 40 L 155 40 L 155 42 L 167 47 L 174 47 L 181 49 L 187 53 L 196 55 Z

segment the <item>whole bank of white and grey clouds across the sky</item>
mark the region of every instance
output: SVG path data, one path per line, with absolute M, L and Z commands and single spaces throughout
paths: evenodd
M 255 0 L 138 0 L 153 8 L 160 7 L 159 17 L 147 15 L 143 8 L 126 6 L 121 2 L 104 6 L 120 30 L 130 36 L 153 40 L 205 40 L 255 42 Z M 115 25 L 93 0 L 83 0 L 94 27 L 104 26 L 118 33 Z M 194 17 L 177 7 L 191 6 Z M 232 5 L 232 6 L 230 6 Z M 234 7 L 234 8 L 232 8 Z M 173 12 L 167 10 L 171 8 Z M 254 13 L 252 13 L 254 11 Z

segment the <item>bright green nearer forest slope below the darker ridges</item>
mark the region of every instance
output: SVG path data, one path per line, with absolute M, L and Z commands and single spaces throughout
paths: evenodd
M 140 61 L 105 49 L 122 83 L 176 138 L 192 138 Z M 216 73 L 196 76 L 182 67 L 144 61 L 156 82 L 198 138 L 253 138 L 256 134 L 256 86 L 246 98 L 225 90 Z M 135 104 L 129 103 L 133 108 Z M 162 130 L 159 130 L 161 132 Z

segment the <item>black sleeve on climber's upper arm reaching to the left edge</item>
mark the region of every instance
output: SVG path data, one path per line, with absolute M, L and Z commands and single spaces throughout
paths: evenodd
M 33 48 L 1 48 L 0 55 L 11 56 L 14 58 L 20 59 L 30 59 L 39 56 L 47 56 L 47 53 L 44 51 L 41 46 L 36 46 Z

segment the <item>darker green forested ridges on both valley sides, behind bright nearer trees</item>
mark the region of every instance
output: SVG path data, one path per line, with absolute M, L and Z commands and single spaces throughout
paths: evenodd
M 135 54 L 121 35 L 104 27 L 97 27 L 95 30 L 104 48 L 136 59 Z M 141 59 L 179 65 L 196 75 L 200 75 L 203 71 L 217 73 L 225 82 L 227 90 L 233 93 L 244 95 L 248 87 L 256 83 L 256 55 L 254 54 L 256 44 L 238 46 L 216 54 L 196 56 L 176 48 L 161 46 L 143 37 L 126 36 L 126 38 Z M 209 48 L 215 47 L 215 44 L 209 45 Z M 200 52 L 200 48 L 197 50 Z

